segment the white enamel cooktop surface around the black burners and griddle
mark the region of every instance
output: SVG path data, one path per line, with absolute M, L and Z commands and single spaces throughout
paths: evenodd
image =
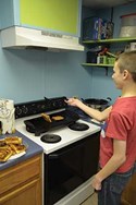
M 21 132 L 22 134 L 24 134 L 25 136 L 27 136 L 28 138 L 30 138 L 32 141 L 34 141 L 35 143 L 37 143 L 38 145 L 40 145 L 44 148 L 44 153 L 46 154 L 50 154 L 54 150 L 58 150 L 62 147 L 65 147 L 74 142 L 77 142 L 88 135 L 91 135 L 96 132 L 100 131 L 100 126 L 83 121 L 83 120 L 78 120 L 78 122 L 83 122 L 89 125 L 89 129 L 86 131 L 73 131 L 71 129 L 69 129 L 67 126 L 63 126 L 61 129 L 57 129 L 53 131 L 49 131 L 46 133 L 53 133 L 53 134 L 58 134 L 61 136 L 61 141 L 58 143 L 53 143 L 53 144 L 49 144 L 49 143 L 44 143 L 41 142 L 40 137 L 46 134 L 42 133 L 40 136 L 35 136 L 34 133 L 29 133 L 26 131 L 26 125 L 24 124 L 24 120 L 27 119 L 32 119 L 32 118 L 36 118 L 37 116 L 34 117 L 27 117 L 27 118 L 21 118 L 21 119 L 16 119 L 15 121 L 15 128 L 18 132 Z

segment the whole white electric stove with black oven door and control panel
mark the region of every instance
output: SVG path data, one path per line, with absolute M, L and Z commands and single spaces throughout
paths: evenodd
M 85 121 L 77 112 L 73 114 L 65 99 L 15 105 L 16 130 L 44 148 L 44 205 L 78 205 L 94 193 L 90 181 L 98 167 L 100 126 Z M 50 117 L 64 113 L 64 123 L 54 126 L 46 123 L 48 129 L 37 134 L 35 121 L 42 112 Z M 26 122 L 30 122 L 32 130 L 26 129 Z

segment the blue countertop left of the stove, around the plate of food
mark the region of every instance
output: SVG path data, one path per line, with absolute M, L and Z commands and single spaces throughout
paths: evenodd
M 42 147 L 26 137 L 24 134 L 20 133 L 16 131 L 14 134 L 5 134 L 5 135 L 0 135 L 0 138 L 3 138 L 5 136 L 20 136 L 23 140 L 23 143 L 27 145 L 26 154 L 16 158 L 16 159 L 9 159 L 5 162 L 0 162 L 0 170 L 7 169 L 9 167 L 12 167 L 18 162 L 22 162 L 28 158 L 34 157 L 37 154 L 40 154 L 44 152 Z

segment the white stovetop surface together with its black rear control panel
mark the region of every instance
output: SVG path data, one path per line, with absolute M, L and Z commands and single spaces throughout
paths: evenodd
M 67 109 L 67 105 L 64 102 L 66 97 L 42 99 L 29 102 L 23 102 L 15 105 L 15 128 L 17 131 L 23 133 L 25 136 L 37 143 L 44 148 L 45 154 L 50 154 L 54 150 L 63 148 L 72 143 L 75 143 L 88 135 L 91 135 L 100 131 L 100 126 L 92 124 L 90 122 L 84 121 L 82 119 L 77 120 L 79 123 L 88 125 L 88 130 L 85 131 L 74 131 L 69 128 L 69 124 L 63 126 L 54 128 L 46 133 L 40 133 L 36 136 L 35 133 L 30 133 L 26 130 L 24 121 L 39 118 L 41 112 L 47 114 L 55 113 L 58 111 L 64 111 Z M 41 136 L 45 134 L 55 134 L 61 137 L 61 141 L 57 143 L 45 143 L 41 141 Z M 91 136 L 90 136 L 91 137 Z

